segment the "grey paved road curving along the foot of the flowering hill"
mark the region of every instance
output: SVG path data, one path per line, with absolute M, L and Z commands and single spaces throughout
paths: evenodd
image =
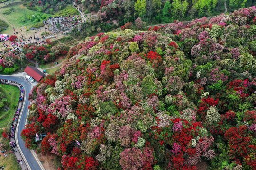
M 17 125 L 18 133 L 17 133 L 17 142 L 20 147 L 20 153 L 22 153 L 23 157 L 26 158 L 27 160 L 27 167 L 29 170 L 44 170 L 44 167 L 42 167 L 42 164 L 38 162 L 37 158 L 34 156 L 31 150 L 27 149 L 25 147 L 25 142 L 21 139 L 20 133 L 25 127 L 26 123 L 26 118 L 27 118 L 27 112 L 28 112 L 28 106 L 29 106 L 29 100 L 28 95 L 31 91 L 31 83 L 28 82 L 24 77 L 22 76 L 5 76 L 5 75 L 0 75 L 0 79 L 6 79 L 6 80 L 11 80 L 20 83 L 23 85 L 25 92 L 26 92 L 26 97 L 24 97 L 24 103 L 23 103 L 23 111 L 20 113 L 20 121 L 19 124 Z M 17 143 L 16 142 L 16 143 Z M 24 160 L 25 161 L 25 160 Z M 25 161 L 26 162 L 26 161 Z

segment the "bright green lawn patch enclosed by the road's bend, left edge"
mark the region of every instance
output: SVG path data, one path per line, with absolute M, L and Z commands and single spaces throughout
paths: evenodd
M 0 84 L 0 89 L 6 96 L 7 102 L 9 102 L 8 111 L 0 110 L 0 128 L 4 128 L 9 124 L 9 122 L 12 121 L 13 115 L 16 111 L 15 109 L 18 104 L 19 89 L 16 86 L 4 84 Z M 11 93 L 11 95 L 9 94 L 9 92 Z

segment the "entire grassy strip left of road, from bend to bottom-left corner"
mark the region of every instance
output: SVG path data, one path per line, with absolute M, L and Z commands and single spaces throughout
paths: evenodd
M 12 121 L 16 106 L 18 104 L 19 89 L 18 87 L 12 85 L 3 84 L 0 84 L 0 89 L 7 97 L 7 101 L 10 103 L 8 111 L 4 112 L 3 110 L 0 110 L 0 143 L 3 143 L 7 146 L 7 157 L 5 158 L 3 153 L 0 153 L 0 166 L 3 166 L 5 170 L 21 170 L 18 166 L 18 162 L 16 161 L 14 154 L 9 153 L 11 150 L 9 147 L 9 140 L 2 136 L 3 129 L 6 128 L 9 122 Z

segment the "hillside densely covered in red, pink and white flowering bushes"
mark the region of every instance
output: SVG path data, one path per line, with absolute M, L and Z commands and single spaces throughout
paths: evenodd
M 256 169 L 255 24 L 251 7 L 87 37 L 32 89 L 26 146 L 48 133 L 59 170 Z

